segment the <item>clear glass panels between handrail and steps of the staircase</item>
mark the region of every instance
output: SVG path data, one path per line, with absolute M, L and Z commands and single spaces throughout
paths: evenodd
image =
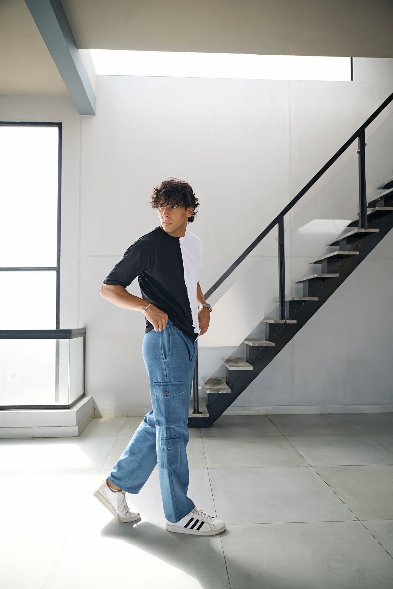
M 392 170 L 392 116 L 366 139 L 367 200 L 388 181 Z M 366 134 L 367 137 L 367 134 Z M 312 260 L 336 250 L 329 244 L 358 216 L 359 156 L 355 140 L 284 217 L 286 297 L 302 296 L 296 280 L 320 271 Z M 369 169 L 370 168 L 370 169 Z M 354 227 L 348 227 L 348 231 Z M 209 297 L 213 305 L 209 330 L 198 339 L 199 385 L 223 376 L 223 360 L 245 357 L 246 337 L 265 339 L 263 318 L 279 318 L 278 228 L 275 226 L 227 281 Z M 227 279 L 228 280 L 228 279 Z

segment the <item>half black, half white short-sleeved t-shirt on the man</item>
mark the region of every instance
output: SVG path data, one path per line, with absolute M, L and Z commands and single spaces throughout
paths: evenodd
M 184 237 L 174 237 L 158 225 L 128 247 L 104 284 L 127 288 L 138 276 L 142 298 L 166 313 L 195 341 L 199 335 L 196 289 L 202 254 L 202 241 L 191 231 L 186 230 Z M 154 326 L 145 319 L 147 333 Z

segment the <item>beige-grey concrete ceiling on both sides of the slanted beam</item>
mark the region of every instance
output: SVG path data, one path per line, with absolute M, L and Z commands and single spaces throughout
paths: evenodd
M 390 0 L 62 0 L 78 49 L 392 58 Z M 0 2 L 1 94 L 67 88 L 24 0 Z

